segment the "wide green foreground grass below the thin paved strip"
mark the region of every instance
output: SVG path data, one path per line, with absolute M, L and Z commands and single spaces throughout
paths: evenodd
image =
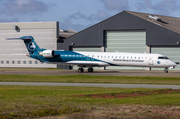
M 0 118 L 34 118 L 82 113 L 99 106 L 117 108 L 122 104 L 180 105 L 180 94 L 154 94 L 133 98 L 92 98 L 73 95 L 133 93 L 159 89 L 120 89 L 52 86 L 0 86 Z

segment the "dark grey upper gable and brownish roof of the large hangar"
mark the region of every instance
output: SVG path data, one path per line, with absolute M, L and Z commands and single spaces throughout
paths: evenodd
M 76 46 L 104 46 L 106 31 L 146 30 L 147 46 L 180 47 L 180 18 L 122 11 L 68 37 L 65 42 Z M 69 50 L 69 45 L 65 46 Z

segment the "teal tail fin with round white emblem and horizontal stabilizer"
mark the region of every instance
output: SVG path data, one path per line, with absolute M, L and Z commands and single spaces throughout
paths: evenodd
M 13 40 L 13 39 L 21 39 L 24 41 L 27 50 L 29 51 L 30 54 L 33 53 L 38 53 L 38 51 L 41 51 L 39 46 L 36 44 L 34 41 L 34 38 L 32 36 L 23 36 L 20 38 L 7 38 L 7 40 Z

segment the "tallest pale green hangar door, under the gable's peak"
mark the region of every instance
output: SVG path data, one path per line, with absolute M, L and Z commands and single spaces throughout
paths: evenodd
M 105 32 L 106 52 L 146 52 L 146 31 L 106 31 Z M 111 66 L 107 69 L 145 69 L 139 67 L 119 67 Z

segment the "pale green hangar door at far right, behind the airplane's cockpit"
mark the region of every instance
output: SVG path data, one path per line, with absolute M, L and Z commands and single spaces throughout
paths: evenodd
M 180 62 L 180 48 L 172 47 L 151 47 L 152 53 L 159 53 L 167 56 L 174 62 Z M 152 70 L 162 70 L 162 68 L 152 68 Z M 180 70 L 180 65 L 177 65 L 173 70 Z

